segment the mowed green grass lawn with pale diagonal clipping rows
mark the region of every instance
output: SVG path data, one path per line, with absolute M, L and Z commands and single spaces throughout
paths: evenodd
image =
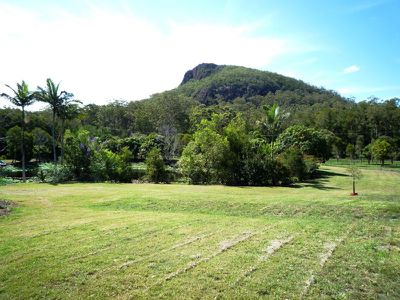
M 400 173 L 297 187 L 16 184 L 0 298 L 400 298 Z

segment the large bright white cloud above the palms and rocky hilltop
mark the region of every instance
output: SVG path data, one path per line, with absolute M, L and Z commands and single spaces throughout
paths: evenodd
M 85 103 L 143 99 L 176 87 L 202 62 L 254 68 L 314 49 L 289 38 L 257 36 L 243 26 L 170 22 L 165 28 L 126 10 L 90 7 L 74 15 L 0 4 L 0 91 L 46 78 Z

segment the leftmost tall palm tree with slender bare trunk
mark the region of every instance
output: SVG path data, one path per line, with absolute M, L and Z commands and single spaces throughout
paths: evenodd
M 21 129 L 22 129 L 22 143 L 21 143 L 21 163 L 22 163 L 22 180 L 26 182 L 26 167 L 25 167 L 25 107 L 31 105 L 35 101 L 34 93 L 29 91 L 28 85 L 25 81 L 17 83 L 17 90 L 14 90 L 9 85 L 6 85 L 14 93 L 9 96 L 2 93 L 0 96 L 7 98 L 12 104 L 21 107 Z

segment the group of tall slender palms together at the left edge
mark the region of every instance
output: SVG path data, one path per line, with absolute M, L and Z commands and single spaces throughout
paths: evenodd
M 57 153 L 56 153 L 56 138 L 55 138 L 55 127 L 56 119 L 61 120 L 62 128 L 61 133 L 64 132 L 65 120 L 69 119 L 71 115 L 76 111 L 76 105 L 80 103 L 78 100 L 74 100 L 74 95 L 66 91 L 59 91 L 60 84 L 55 84 L 50 78 L 46 80 L 46 87 L 37 87 L 37 91 L 30 91 L 25 81 L 17 83 L 17 89 L 13 89 L 11 86 L 6 85 L 12 92 L 12 95 L 2 93 L 0 96 L 8 99 L 12 104 L 21 108 L 21 163 L 22 163 L 22 180 L 26 181 L 26 162 L 25 162 L 25 108 L 35 101 L 44 102 L 50 105 L 53 113 L 52 118 L 52 142 L 53 142 L 53 160 L 57 164 Z M 61 139 L 62 141 L 63 139 Z M 63 156 L 63 142 L 61 142 L 61 161 Z

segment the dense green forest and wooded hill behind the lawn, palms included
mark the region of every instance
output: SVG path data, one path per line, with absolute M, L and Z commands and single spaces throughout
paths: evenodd
M 14 167 L 1 175 L 23 180 L 286 185 L 329 158 L 400 156 L 400 99 L 355 102 L 244 67 L 201 64 L 176 89 L 107 105 L 83 105 L 51 79 L 8 88 L 0 158 Z M 27 111 L 34 101 L 48 109 Z

